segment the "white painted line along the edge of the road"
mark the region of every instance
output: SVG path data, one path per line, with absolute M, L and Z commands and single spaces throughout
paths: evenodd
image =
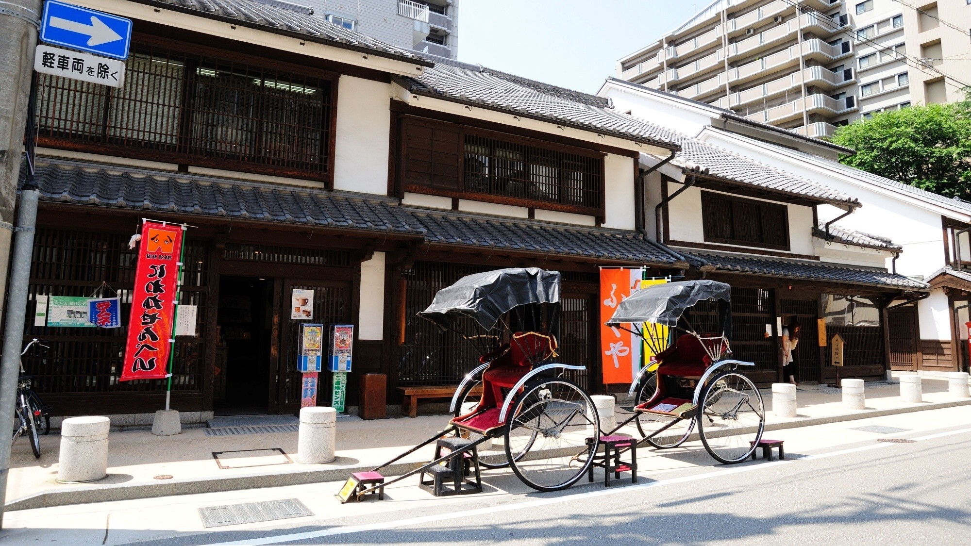
M 929 434 L 926 436 L 919 436 L 917 438 L 911 438 L 913 440 L 930 440 L 933 438 L 940 438 L 943 436 L 951 436 L 954 434 L 962 434 L 965 432 L 971 432 L 971 428 L 961 428 L 958 430 L 949 430 L 947 432 L 939 432 L 936 434 Z M 463 510 L 460 512 L 448 512 L 444 514 L 432 514 L 429 516 L 420 516 L 418 518 L 408 518 L 405 520 L 393 520 L 389 522 L 380 522 L 375 524 L 366 524 L 359 526 L 344 526 L 336 527 L 330 529 L 320 529 L 308 532 L 296 532 L 292 534 L 280 534 L 276 536 L 265 536 L 262 538 L 250 538 L 246 540 L 234 540 L 230 542 L 218 542 L 213 544 L 207 544 L 205 546 L 262 546 L 265 544 L 281 544 L 284 542 L 294 542 L 297 540 L 308 540 L 311 538 L 321 538 L 324 536 L 334 536 L 338 534 L 351 534 L 354 532 L 364 532 L 369 530 L 384 530 L 384 529 L 394 529 L 400 527 L 417 526 L 422 524 L 428 524 L 432 522 L 441 522 L 445 520 L 463 519 L 463 518 L 474 518 L 476 516 L 483 516 L 485 514 L 495 514 L 499 512 L 512 512 L 524 510 L 527 508 L 533 508 L 536 506 L 546 506 L 550 504 L 559 504 L 561 502 L 569 502 L 573 500 L 590 498 L 596 496 L 606 496 L 606 495 L 617 495 L 619 493 L 627 493 L 633 490 L 650 489 L 654 487 L 667 486 L 672 484 L 683 484 L 686 482 L 694 482 L 698 480 L 707 480 L 711 478 L 718 478 L 721 476 L 726 476 L 728 474 L 737 474 L 740 472 L 748 472 L 750 470 L 762 470 L 765 468 L 771 468 L 773 466 L 778 466 L 780 464 L 790 464 L 795 461 L 811 461 L 816 459 L 825 459 L 828 457 L 836 457 L 840 455 L 848 455 L 851 453 L 858 453 L 862 451 L 869 451 L 874 449 L 886 448 L 888 446 L 895 445 L 892 443 L 879 442 L 875 444 L 867 444 L 865 446 L 860 446 L 851 449 L 833 451 L 828 453 L 821 453 L 819 455 L 810 455 L 807 457 L 802 457 L 795 460 L 787 461 L 772 461 L 762 464 L 753 464 L 749 466 L 733 466 L 730 468 L 725 468 L 723 470 L 717 470 L 714 472 L 705 472 L 702 474 L 693 474 L 690 476 L 682 476 L 680 478 L 671 478 L 668 480 L 659 480 L 656 482 L 648 482 L 645 484 L 631 485 L 621 488 L 611 488 L 602 489 L 596 491 L 589 491 L 586 493 L 577 493 L 573 495 L 562 495 L 554 496 L 549 498 L 539 498 L 536 500 L 528 500 L 525 502 L 513 502 L 509 504 L 501 504 L 499 506 L 488 506 L 485 508 L 477 508 L 474 510 Z

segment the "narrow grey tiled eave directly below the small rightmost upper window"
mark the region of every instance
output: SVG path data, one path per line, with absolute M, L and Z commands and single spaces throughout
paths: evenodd
M 714 267 L 720 271 L 894 289 L 927 289 L 926 283 L 875 267 L 785 257 L 739 256 L 698 251 L 691 251 L 690 255 L 704 259 L 708 262 L 707 267 Z

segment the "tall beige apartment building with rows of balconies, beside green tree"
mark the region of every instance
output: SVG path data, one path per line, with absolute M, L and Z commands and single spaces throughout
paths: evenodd
M 716 0 L 617 70 L 825 137 L 860 116 L 961 96 L 971 65 L 960 63 L 971 61 L 954 57 L 971 57 L 971 0 L 921 1 Z

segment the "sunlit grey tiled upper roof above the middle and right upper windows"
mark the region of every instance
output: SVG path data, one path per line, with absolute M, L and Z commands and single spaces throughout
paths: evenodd
M 434 67 L 426 68 L 421 76 L 402 77 L 398 82 L 413 93 L 445 96 L 513 113 L 528 113 L 551 121 L 570 122 L 621 137 L 680 146 L 679 163 L 700 164 L 707 167 L 712 176 L 723 180 L 823 202 L 858 204 L 856 199 L 840 191 L 821 187 L 650 121 L 620 114 L 607 108 L 606 100 L 601 97 L 534 82 L 483 66 L 432 58 Z

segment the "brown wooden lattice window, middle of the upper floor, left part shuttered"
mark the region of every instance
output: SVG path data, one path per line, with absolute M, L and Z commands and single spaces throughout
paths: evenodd
M 404 118 L 406 191 L 603 216 L 603 154 L 431 119 Z

